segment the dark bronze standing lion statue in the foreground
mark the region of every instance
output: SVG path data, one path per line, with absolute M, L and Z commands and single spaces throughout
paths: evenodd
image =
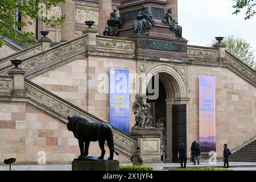
M 84 118 L 73 116 L 68 117 L 67 128 L 69 131 L 73 131 L 75 138 L 79 140 L 81 152 L 79 158 L 88 156 L 90 142 L 96 142 L 97 140 L 101 148 L 101 156 L 98 159 L 104 159 L 106 152 L 104 149 L 105 140 L 108 143 L 110 151 L 108 160 L 113 160 L 114 153 L 116 155 L 119 154 L 114 150 L 112 127 L 107 123 L 90 122 Z

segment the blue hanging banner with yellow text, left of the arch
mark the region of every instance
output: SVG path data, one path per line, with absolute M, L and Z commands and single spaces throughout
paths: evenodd
M 126 133 L 130 131 L 129 73 L 127 69 L 109 70 L 110 125 Z

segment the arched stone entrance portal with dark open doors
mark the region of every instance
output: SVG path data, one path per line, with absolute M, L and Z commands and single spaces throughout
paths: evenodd
M 157 83 L 155 80 L 158 80 Z M 152 86 L 150 85 L 152 81 Z M 151 99 L 154 93 L 148 92 L 147 86 L 159 88 L 159 97 Z M 166 162 L 178 162 L 177 149 L 180 143 L 187 146 L 187 104 L 188 88 L 182 75 L 168 64 L 160 64 L 149 69 L 142 78 L 141 94 L 148 96 L 147 102 L 153 106 L 151 112 L 155 125 L 164 123 L 166 129 Z

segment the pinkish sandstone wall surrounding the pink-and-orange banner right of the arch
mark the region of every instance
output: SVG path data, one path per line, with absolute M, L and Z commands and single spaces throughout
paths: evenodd
M 223 144 L 230 150 L 256 135 L 256 88 L 226 68 L 188 67 L 188 150 L 199 140 L 199 75 L 216 76 L 216 145 L 222 157 Z

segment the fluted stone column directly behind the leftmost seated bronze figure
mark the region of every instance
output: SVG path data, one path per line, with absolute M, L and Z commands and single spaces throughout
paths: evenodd
M 107 20 L 112 11 L 112 0 L 98 1 L 98 35 L 103 35 L 105 27 L 107 27 Z

